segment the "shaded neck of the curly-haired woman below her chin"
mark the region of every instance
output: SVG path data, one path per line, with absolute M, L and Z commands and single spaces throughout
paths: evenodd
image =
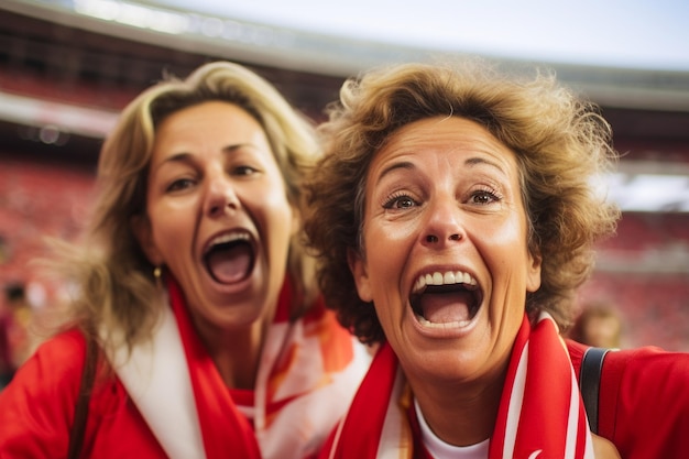
M 447 444 L 470 446 L 488 439 L 495 426 L 504 376 L 492 382 L 428 383 L 409 385 L 426 423 Z

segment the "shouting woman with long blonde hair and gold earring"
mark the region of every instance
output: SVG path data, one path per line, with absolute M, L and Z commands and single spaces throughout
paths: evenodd
M 3 458 L 313 458 L 370 361 L 302 234 L 313 127 L 218 62 L 135 98 L 91 225 L 53 265 L 66 330 L 0 393 Z

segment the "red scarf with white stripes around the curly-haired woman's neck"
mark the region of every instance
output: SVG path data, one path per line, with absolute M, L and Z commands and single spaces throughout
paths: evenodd
M 406 382 L 389 345 L 376 353 L 349 413 L 321 458 L 424 458 L 404 398 Z M 416 442 L 419 444 L 418 438 Z M 577 379 L 557 325 L 544 313 L 517 332 L 489 459 L 592 459 L 593 448 Z

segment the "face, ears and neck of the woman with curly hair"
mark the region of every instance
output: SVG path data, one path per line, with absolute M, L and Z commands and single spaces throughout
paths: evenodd
M 401 128 L 368 172 L 363 253 L 350 254 L 357 288 L 373 302 L 429 426 L 453 445 L 491 435 L 526 292 L 539 286 L 525 216 L 514 153 L 470 120 Z M 470 274 L 480 307 L 469 317 L 470 295 L 435 295 L 436 324 L 424 325 L 414 285 L 448 271 Z

